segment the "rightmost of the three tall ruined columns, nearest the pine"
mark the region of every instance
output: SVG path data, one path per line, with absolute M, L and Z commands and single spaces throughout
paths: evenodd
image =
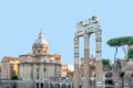
M 96 53 L 96 85 L 102 86 L 102 37 L 101 37 L 101 30 L 95 33 L 95 53 Z

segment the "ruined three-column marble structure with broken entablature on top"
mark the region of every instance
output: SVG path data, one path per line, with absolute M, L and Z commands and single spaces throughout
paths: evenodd
M 74 36 L 74 88 L 80 87 L 80 80 L 83 79 L 84 88 L 90 88 L 90 47 L 89 40 L 92 33 L 95 33 L 95 42 L 96 42 L 96 85 L 102 85 L 102 48 L 101 48 L 101 32 L 99 25 L 99 19 L 96 16 L 92 16 L 85 21 L 81 21 L 76 25 L 76 32 Z M 79 74 L 79 38 L 84 37 L 84 77 L 81 78 Z M 99 74 L 98 74 L 99 73 Z

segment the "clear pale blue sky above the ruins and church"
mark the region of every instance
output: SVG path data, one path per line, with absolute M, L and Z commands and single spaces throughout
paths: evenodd
M 102 30 L 102 58 L 113 61 L 115 50 L 106 42 L 133 35 L 133 0 L 0 0 L 0 59 L 32 53 L 40 30 L 50 54 L 61 54 L 63 64 L 73 64 L 73 37 L 76 23 L 96 15 Z M 95 56 L 95 35 L 91 35 L 91 55 Z M 80 38 L 83 57 L 83 38 Z M 123 52 L 119 51 L 119 58 Z

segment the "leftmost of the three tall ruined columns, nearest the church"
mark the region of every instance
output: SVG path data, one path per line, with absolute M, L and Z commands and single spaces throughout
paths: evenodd
M 74 37 L 74 88 L 79 88 L 79 37 Z

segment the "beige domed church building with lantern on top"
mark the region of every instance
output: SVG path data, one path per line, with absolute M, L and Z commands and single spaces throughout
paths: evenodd
M 61 55 L 51 55 L 49 50 L 49 44 L 43 40 L 43 34 L 40 32 L 32 46 L 32 53 L 19 56 L 18 77 L 25 80 L 61 77 Z

